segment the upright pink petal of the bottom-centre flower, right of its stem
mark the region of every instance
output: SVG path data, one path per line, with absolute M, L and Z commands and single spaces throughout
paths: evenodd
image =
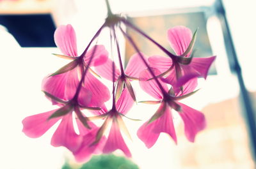
M 127 112 L 132 108 L 133 104 L 134 99 L 132 99 L 128 89 L 125 88 L 124 91 L 122 91 L 120 98 L 116 102 L 116 108 L 118 112 L 121 114 L 127 114 Z

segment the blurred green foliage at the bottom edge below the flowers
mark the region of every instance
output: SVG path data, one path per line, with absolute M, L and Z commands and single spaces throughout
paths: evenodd
M 66 163 L 62 169 L 72 169 L 72 166 Z M 85 163 L 79 169 L 139 169 L 138 166 L 124 157 L 109 155 L 93 156 L 90 161 Z

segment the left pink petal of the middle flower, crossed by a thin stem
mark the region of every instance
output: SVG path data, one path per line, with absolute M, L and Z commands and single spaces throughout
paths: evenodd
M 104 64 L 95 67 L 95 71 L 101 76 L 108 80 L 113 81 L 113 61 L 111 59 L 108 59 Z M 120 76 L 120 71 L 115 66 L 115 81 Z

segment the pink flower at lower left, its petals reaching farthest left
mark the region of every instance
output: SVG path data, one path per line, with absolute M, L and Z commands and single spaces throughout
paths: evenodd
M 79 95 L 81 97 L 79 97 L 80 99 L 78 99 L 77 103 L 73 100 L 63 101 L 59 98 L 52 97 L 52 99 L 58 101 L 58 105 L 61 105 L 62 107 L 42 114 L 26 117 L 22 121 L 22 131 L 31 138 L 38 138 L 44 135 L 49 128 L 51 128 L 57 121 L 61 119 L 60 125 L 52 136 L 51 145 L 54 147 L 64 146 L 70 151 L 76 152 L 81 147 L 83 138 L 87 137 L 88 135 L 92 135 L 91 132 L 97 129 L 97 126 L 88 121 L 83 112 L 81 112 L 84 105 L 84 107 L 88 108 L 87 104 L 90 103 L 90 99 L 87 99 L 87 102 L 84 102 L 86 99 L 83 99 L 83 106 L 81 106 L 81 98 L 86 97 L 86 95 L 83 94 L 83 92 L 79 93 Z M 97 110 L 98 108 L 94 109 Z M 73 112 L 75 112 L 77 117 L 76 123 L 79 129 L 79 134 L 77 134 L 74 130 L 72 117 Z M 96 148 L 97 147 L 95 147 L 95 149 Z

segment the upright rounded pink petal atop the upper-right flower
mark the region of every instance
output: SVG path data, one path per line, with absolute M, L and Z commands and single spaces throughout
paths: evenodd
M 175 26 L 168 30 L 168 40 L 177 55 L 182 55 L 192 40 L 192 33 L 188 27 Z M 191 52 L 189 52 L 190 54 Z M 189 56 L 186 55 L 187 57 Z

